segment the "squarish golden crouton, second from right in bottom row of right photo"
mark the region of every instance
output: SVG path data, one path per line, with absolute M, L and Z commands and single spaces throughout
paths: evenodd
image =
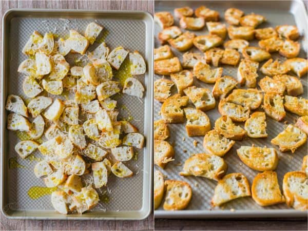
M 276 172 L 264 171 L 257 174 L 252 184 L 252 197 L 261 206 L 279 204 L 285 201 L 279 188 Z

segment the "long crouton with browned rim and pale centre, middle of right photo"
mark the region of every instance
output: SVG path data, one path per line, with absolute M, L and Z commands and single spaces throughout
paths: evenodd
M 218 111 L 221 115 L 228 115 L 233 121 L 244 122 L 249 118 L 251 110 L 247 106 L 230 103 L 221 99 L 218 104 Z

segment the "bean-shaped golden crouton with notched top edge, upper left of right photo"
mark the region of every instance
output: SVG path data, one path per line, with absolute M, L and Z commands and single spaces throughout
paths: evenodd
M 204 83 L 213 84 L 222 75 L 222 68 L 211 69 L 210 66 L 202 61 L 198 61 L 192 72 L 196 78 Z

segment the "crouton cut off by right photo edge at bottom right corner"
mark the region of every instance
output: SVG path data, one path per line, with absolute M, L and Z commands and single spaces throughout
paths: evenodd
M 287 172 L 283 177 L 282 189 L 288 206 L 298 210 L 308 209 L 308 185 L 304 172 Z

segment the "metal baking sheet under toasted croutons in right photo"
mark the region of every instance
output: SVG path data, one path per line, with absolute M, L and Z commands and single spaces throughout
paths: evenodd
M 261 24 L 258 28 L 264 27 L 275 27 L 277 25 L 290 24 L 296 25 L 299 28 L 301 38 L 301 52 L 300 57 L 307 57 L 307 54 L 304 52 L 304 49 L 307 49 L 307 40 L 308 40 L 308 29 L 307 29 L 307 14 L 305 12 L 305 7 L 301 1 L 156 1 L 155 2 L 155 12 L 160 11 L 169 11 L 173 14 L 175 8 L 189 6 L 193 9 L 198 8 L 201 5 L 205 5 L 210 9 L 219 11 L 221 16 L 221 22 L 225 23 L 224 11 L 230 7 L 239 8 L 245 12 L 245 14 L 254 12 L 256 14 L 264 15 L 267 18 L 267 22 Z M 175 25 L 179 26 L 179 20 L 175 18 Z M 228 24 L 226 24 L 228 26 Z M 157 39 L 158 32 L 161 28 L 158 24 L 155 25 L 155 47 L 159 47 L 160 43 Z M 181 29 L 184 31 L 183 29 Z M 192 31 L 197 35 L 208 34 L 206 26 L 201 31 Z M 226 38 L 228 40 L 228 38 Z M 254 40 L 250 42 L 252 46 L 258 46 L 257 41 Z M 196 52 L 196 48 L 192 48 Z M 176 56 L 182 60 L 183 52 L 179 52 L 172 48 L 172 51 Z M 272 54 L 273 58 L 280 57 L 278 54 Z M 263 62 L 264 63 L 264 62 Z M 263 64 L 260 64 L 261 65 Z M 237 67 L 230 67 L 227 65 L 223 67 L 223 75 L 233 76 L 237 78 Z M 260 80 L 263 78 L 261 72 L 258 73 Z M 155 75 L 155 80 L 162 78 L 162 76 Z M 169 76 L 165 76 L 169 79 Z M 307 97 L 307 78 L 303 76 L 301 82 L 304 87 L 304 94 L 300 95 L 301 97 Z M 195 79 L 195 85 L 206 87 L 209 89 L 213 88 L 213 84 L 205 84 Z M 240 87 L 242 88 L 242 87 Z M 173 88 L 174 92 L 176 89 Z M 161 119 L 159 111 L 161 108 L 161 103 L 155 100 L 155 120 Z M 218 105 L 218 101 L 217 101 Z M 192 105 L 191 105 L 192 106 Z M 258 110 L 262 111 L 261 108 Z M 219 114 L 217 107 L 216 109 L 206 111 L 208 115 L 211 127 L 213 128 L 214 123 L 217 118 L 221 115 Z M 297 115 L 287 112 L 287 115 L 284 121 L 287 121 L 289 124 L 293 124 Z M 278 150 L 277 146 L 271 144 L 271 140 L 281 132 L 285 126 L 283 122 L 276 122 L 273 119 L 266 117 L 267 122 L 267 139 L 248 139 L 243 141 L 236 141 L 234 147 L 224 156 L 224 160 L 228 164 L 227 174 L 231 172 L 242 172 L 249 180 L 249 183 L 252 184 L 254 177 L 258 173 L 255 170 L 248 168 L 245 164 L 241 162 L 238 158 L 236 149 L 241 145 L 251 146 L 255 144 L 256 146 L 267 146 L 274 147 Z M 243 127 L 243 123 L 240 123 L 240 126 Z M 204 152 L 202 146 L 203 137 L 188 137 L 185 130 L 185 123 L 183 124 L 169 124 L 170 128 L 170 138 L 168 141 L 175 144 L 175 161 L 167 164 L 165 169 L 161 169 L 158 166 L 155 166 L 155 169 L 159 169 L 163 172 L 167 179 L 176 179 L 183 180 L 190 184 L 192 187 L 192 199 L 185 210 L 181 211 L 165 211 L 162 208 L 163 202 L 158 210 L 155 210 L 155 218 L 226 218 L 226 217 L 304 217 L 307 216 L 305 211 L 298 211 L 293 208 L 288 208 L 286 204 L 278 204 L 273 206 L 261 207 L 254 202 L 251 197 L 240 198 L 234 201 L 226 203 L 221 208 L 211 208 L 210 200 L 213 197 L 214 189 L 217 184 L 215 181 L 211 181 L 205 178 L 200 177 L 182 177 L 179 176 L 179 172 L 183 168 L 185 160 L 192 153 L 201 153 Z M 185 141 L 183 141 L 185 138 Z M 198 146 L 194 147 L 193 141 L 198 141 Z M 183 150 L 186 149 L 185 153 Z M 307 145 L 301 146 L 296 152 L 292 155 L 291 152 L 280 152 L 279 155 L 279 164 L 276 169 L 278 175 L 278 181 L 280 188 L 282 189 L 282 179 L 283 175 L 288 171 L 300 170 L 302 159 L 307 155 Z M 164 201 L 164 200 L 163 200 Z

